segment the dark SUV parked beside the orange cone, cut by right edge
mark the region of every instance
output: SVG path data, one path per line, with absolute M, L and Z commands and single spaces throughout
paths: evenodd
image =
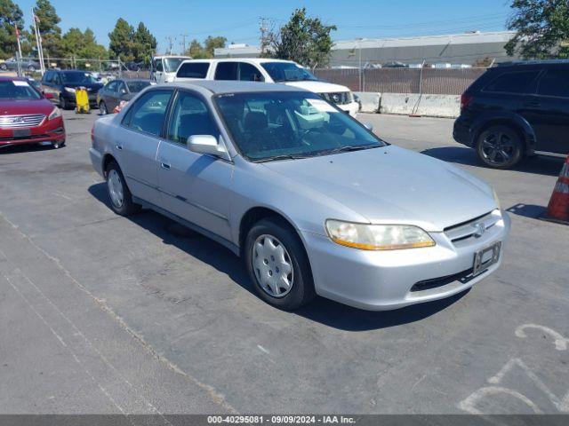
M 510 62 L 489 68 L 461 97 L 453 138 L 487 166 L 509 169 L 525 157 L 569 154 L 569 60 Z

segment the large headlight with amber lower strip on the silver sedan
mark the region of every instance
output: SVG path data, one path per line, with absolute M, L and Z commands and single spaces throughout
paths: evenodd
M 325 226 L 335 243 L 362 250 L 399 250 L 435 245 L 428 233 L 413 225 L 368 225 L 328 219 Z

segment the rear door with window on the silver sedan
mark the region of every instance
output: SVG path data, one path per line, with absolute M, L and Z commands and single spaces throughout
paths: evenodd
M 119 166 L 132 194 L 160 205 L 156 154 L 172 89 L 148 91 L 124 115 L 114 134 Z

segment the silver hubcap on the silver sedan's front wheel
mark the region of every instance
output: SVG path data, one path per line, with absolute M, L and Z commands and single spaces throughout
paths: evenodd
M 253 243 L 252 269 L 269 296 L 284 297 L 293 288 L 293 261 L 283 243 L 272 235 L 260 235 Z

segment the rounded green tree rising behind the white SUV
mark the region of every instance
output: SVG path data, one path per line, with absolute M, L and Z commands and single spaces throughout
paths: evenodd
M 283 27 L 268 32 L 268 55 L 294 60 L 304 67 L 324 66 L 333 45 L 330 33 L 335 30 L 335 25 L 307 17 L 305 7 L 296 9 Z

